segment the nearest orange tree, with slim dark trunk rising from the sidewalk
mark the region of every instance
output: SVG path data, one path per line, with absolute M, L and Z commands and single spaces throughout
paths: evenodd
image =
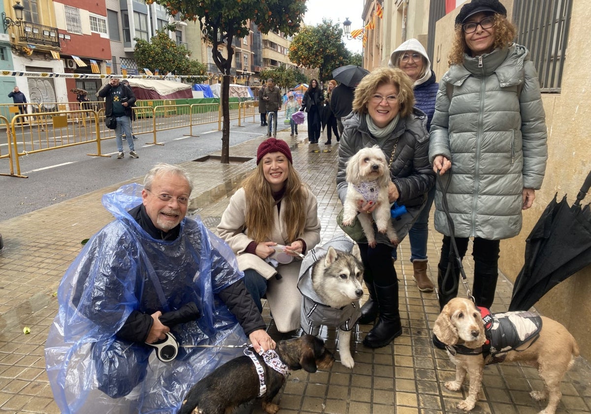
M 261 33 L 281 31 L 292 35 L 300 30 L 306 11 L 305 0 L 147 0 L 165 6 L 171 15 L 183 20 L 199 21 L 204 41 L 212 44 L 212 57 L 223 74 L 222 83 L 222 163 L 230 162 L 230 69 L 234 38 L 249 34 L 250 24 Z

